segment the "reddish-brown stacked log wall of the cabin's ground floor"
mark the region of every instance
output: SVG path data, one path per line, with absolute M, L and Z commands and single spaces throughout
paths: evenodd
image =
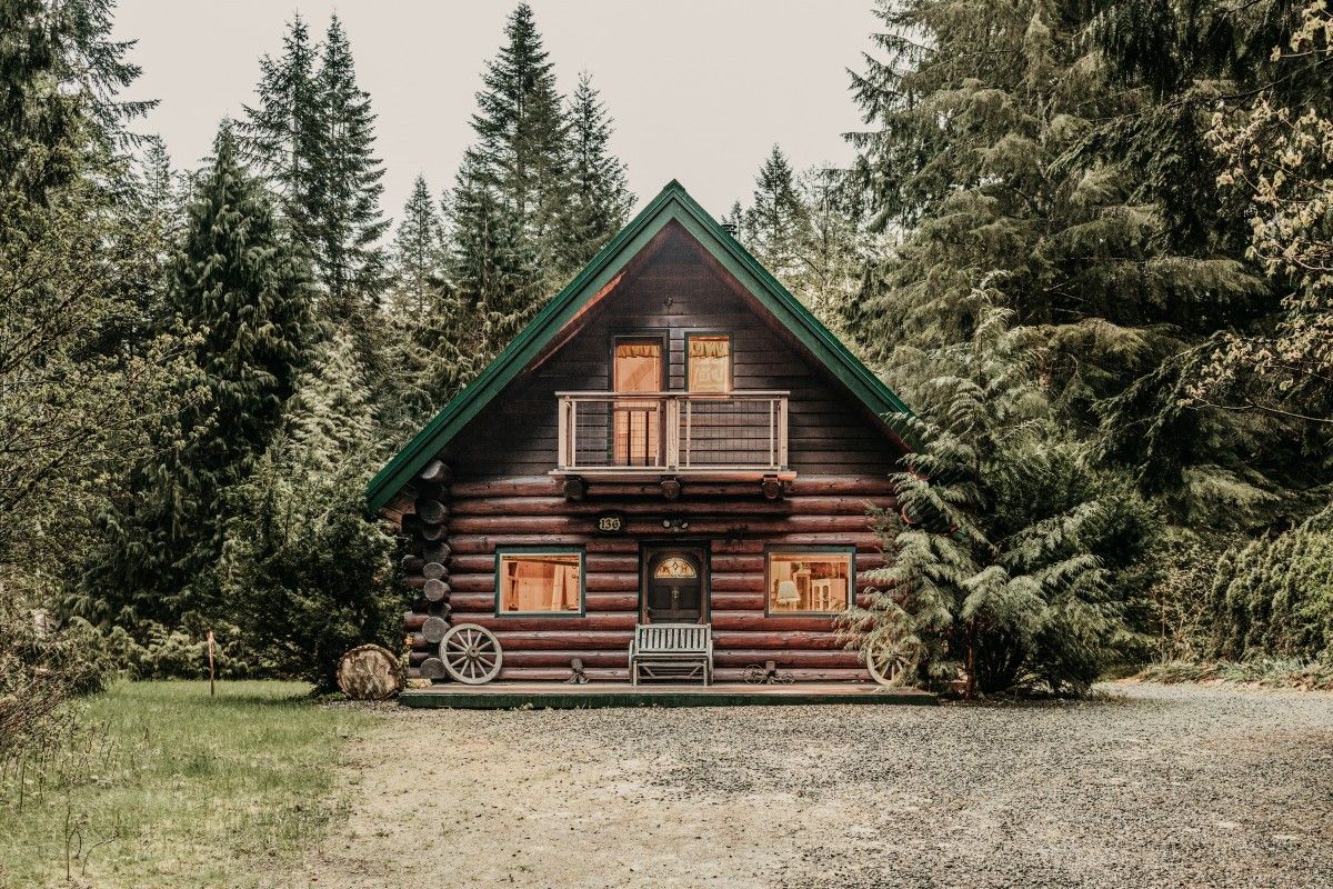
M 549 477 L 455 482 L 448 505 L 451 622 L 496 633 L 504 648 L 500 678 L 569 678 L 573 658 L 589 678 L 628 678 L 629 642 L 640 620 L 640 549 L 670 541 L 708 545 L 708 621 L 718 680 L 737 680 L 746 665 L 769 660 L 797 680 L 866 678 L 832 617 L 765 613 L 765 548 L 854 546 L 857 588 L 865 589 L 864 572 L 884 565 L 866 510 L 893 508 L 885 477 L 797 478 L 778 501 L 758 498 L 752 484 L 692 493 L 686 481 L 676 502 L 648 493 L 647 485 L 624 488 L 644 493 L 597 497 L 593 485 L 592 498 L 569 502 Z M 592 532 L 608 510 L 625 516 L 624 536 Z M 664 533 L 663 521 L 673 518 L 688 521 L 688 529 Z M 516 545 L 585 550 L 583 616 L 496 614 L 496 553 Z M 433 656 L 423 633 L 428 608 L 421 600 L 408 614 L 413 666 Z

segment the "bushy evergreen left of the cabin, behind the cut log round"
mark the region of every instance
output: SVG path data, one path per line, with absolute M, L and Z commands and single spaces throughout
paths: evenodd
M 239 636 L 264 673 L 325 690 L 344 652 L 393 646 L 401 628 L 393 542 L 360 498 L 381 456 L 367 391 L 351 337 L 336 336 L 231 497 L 221 573 Z

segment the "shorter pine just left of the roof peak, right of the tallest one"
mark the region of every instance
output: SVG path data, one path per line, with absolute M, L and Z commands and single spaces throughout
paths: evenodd
M 579 76 L 569 101 L 569 155 L 573 192 L 564 224 L 564 269 L 588 264 L 629 217 L 633 197 L 625 179 L 625 165 L 611 153 L 612 120 L 592 76 Z

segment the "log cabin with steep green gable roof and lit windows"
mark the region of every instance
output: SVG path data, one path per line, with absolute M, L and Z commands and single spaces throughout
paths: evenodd
M 636 628 L 692 624 L 718 681 L 866 681 L 834 618 L 884 564 L 906 412 L 669 183 L 369 482 L 411 674 L 467 625 L 503 650 L 473 681 L 624 681 Z

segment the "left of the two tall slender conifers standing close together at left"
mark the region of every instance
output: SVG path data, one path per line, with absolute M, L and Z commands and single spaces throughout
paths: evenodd
M 245 105 L 247 120 L 237 127 L 247 155 L 280 195 L 283 215 L 307 249 L 315 237 L 316 171 L 324 143 L 317 53 L 296 13 L 283 36 L 283 55 L 260 59 L 259 104 Z

